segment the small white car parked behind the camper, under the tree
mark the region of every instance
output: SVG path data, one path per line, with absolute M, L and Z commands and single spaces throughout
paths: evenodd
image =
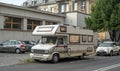
M 113 54 L 120 55 L 120 46 L 115 42 L 107 41 L 100 43 L 96 49 L 96 55 L 110 55 Z

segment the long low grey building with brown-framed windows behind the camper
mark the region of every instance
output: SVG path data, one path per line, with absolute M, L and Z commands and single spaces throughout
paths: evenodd
M 38 25 L 65 23 L 65 15 L 0 3 L 0 42 L 38 40 L 32 31 Z

